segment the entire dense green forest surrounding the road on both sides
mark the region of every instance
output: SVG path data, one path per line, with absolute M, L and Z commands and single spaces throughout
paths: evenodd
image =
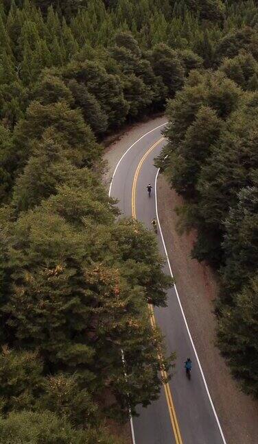
M 120 444 L 108 423 L 159 396 L 147 302 L 172 280 L 152 233 L 117 219 L 102 141 L 161 112 L 156 164 L 220 275 L 218 346 L 257 397 L 256 2 L 1 0 L 0 40 L 0 443 Z

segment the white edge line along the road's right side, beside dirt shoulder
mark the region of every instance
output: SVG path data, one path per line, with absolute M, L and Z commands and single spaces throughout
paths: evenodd
M 172 268 L 171 268 L 171 265 L 170 265 L 169 257 L 168 257 L 168 254 L 167 254 L 167 247 L 166 247 L 166 245 L 165 245 L 165 240 L 164 240 L 164 238 L 163 238 L 163 232 L 162 232 L 162 230 L 161 230 L 161 223 L 159 222 L 158 201 L 157 201 L 157 197 L 156 197 L 156 182 L 157 182 L 157 179 L 158 179 L 159 171 L 160 171 L 160 168 L 159 168 L 158 171 L 156 172 L 156 177 L 155 177 L 155 187 L 154 187 L 154 188 L 155 188 L 156 219 L 157 219 L 158 224 L 159 224 L 159 231 L 160 231 L 160 233 L 161 233 L 161 240 L 162 240 L 162 243 L 163 243 L 163 247 L 164 247 L 164 251 L 165 251 L 165 256 L 166 256 L 166 259 L 167 259 L 167 264 L 168 264 L 168 267 L 169 267 L 169 272 L 170 272 L 170 274 L 172 275 L 172 277 L 174 277 L 174 276 L 173 276 L 173 273 L 172 273 Z M 201 375 L 202 375 L 202 380 L 203 380 L 203 382 L 204 382 L 204 386 L 205 386 L 205 388 L 206 388 L 207 395 L 208 395 L 208 397 L 209 397 L 209 402 L 211 403 L 211 408 L 212 408 L 212 410 L 213 410 L 213 414 L 214 414 L 215 419 L 216 419 L 216 421 L 217 421 L 218 428 L 219 428 L 219 430 L 220 430 L 220 434 L 221 434 L 221 437 L 222 437 L 222 441 L 223 441 L 224 444 L 226 444 L 226 439 L 225 439 L 224 434 L 223 434 L 223 432 L 222 432 L 222 428 L 221 428 L 221 425 L 220 425 L 220 420 L 218 419 L 217 412 L 216 412 L 216 410 L 215 410 L 215 407 L 214 407 L 213 401 L 212 401 L 212 399 L 211 399 L 211 394 L 209 393 L 209 388 L 208 388 L 208 386 L 207 386 L 207 382 L 206 382 L 206 380 L 205 380 L 204 373 L 203 373 L 203 371 L 202 371 L 202 366 L 200 365 L 200 360 L 199 360 L 199 358 L 198 358 L 198 354 L 197 354 L 197 351 L 196 351 L 196 347 L 195 347 L 195 345 L 194 345 L 194 343 L 193 343 L 193 338 L 191 337 L 191 333 L 190 333 L 190 330 L 189 330 L 189 327 L 188 327 L 187 319 L 186 319 L 186 317 L 185 317 L 185 313 L 184 313 L 184 310 L 183 310 L 183 306 L 182 306 L 181 301 L 180 301 L 180 297 L 179 297 L 179 295 L 178 295 L 178 291 L 177 291 L 177 288 L 176 288 L 176 284 L 174 284 L 174 288 L 175 288 L 175 291 L 176 291 L 176 297 L 177 297 L 177 299 L 178 299 L 178 304 L 179 304 L 179 306 L 180 306 L 180 310 L 181 310 L 181 312 L 182 312 L 183 319 L 184 319 L 184 321 L 185 321 L 185 326 L 186 326 L 186 328 L 187 328 L 187 333 L 188 333 L 189 338 L 190 338 L 190 341 L 191 341 L 191 346 L 193 347 L 193 351 L 194 351 L 194 354 L 195 354 L 195 356 L 196 356 L 196 360 L 197 360 L 197 362 L 198 362 L 198 366 L 199 366 L 199 369 L 200 369 L 200 373 L 201 373 Z

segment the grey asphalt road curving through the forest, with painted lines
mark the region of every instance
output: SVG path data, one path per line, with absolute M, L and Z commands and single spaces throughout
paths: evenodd
M 159 218 L 154 186 L 158 172 L 153 159 L 165 144 L 161 134 L 164 125 L 127 147 L 110 183 L 110 195 L 119 199 L 121 212 L 137 217 L 147 227 L 153 217 Z M 150 199 L 146 190 L 149 183 L 153 186 Z M 164 242 L 161 229 L 159 226 L 157 236 L 166 258 L 164 269 L 172 273 L 165 249 L 169 239 Z M 225 444 L 175 286 L 168 291 L 167 299 L 167 308 L 154 308 L 154 317 L 165 335 L 167 351 L 176 351 L 176 369 L 159 399 L 148 408 L 139 407 L 139 417 L 131 421 L 132 439 L 136 444 Z M 188 356 L 193 362 L 191 380 L 183 368 Z

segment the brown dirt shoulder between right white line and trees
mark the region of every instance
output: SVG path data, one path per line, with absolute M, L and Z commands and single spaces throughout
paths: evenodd
M 191 259 L 195 234 L 178 234 L 175 208 L 183 200 L 169 188 L 163 175 L 159 176 L 157 193 L 159 218 L 176 287 L 226 442 L 257 444 L 258 403 L 239 390 L 214 345 L 213 299 L 218 296 L 218 282 L 210 267 Z

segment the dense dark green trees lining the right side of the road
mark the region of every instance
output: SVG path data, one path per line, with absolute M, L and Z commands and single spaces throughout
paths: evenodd
M 185 199 L 179 227 L 197 232 L 193 258 L 220 274 L 218 345 L 257 397 L 258 7 L 231 1 L 226 11 L 238 26 L 211 39 L 206 69 L 192 70 L 169 100 L 169 142 L 156 164 Z

